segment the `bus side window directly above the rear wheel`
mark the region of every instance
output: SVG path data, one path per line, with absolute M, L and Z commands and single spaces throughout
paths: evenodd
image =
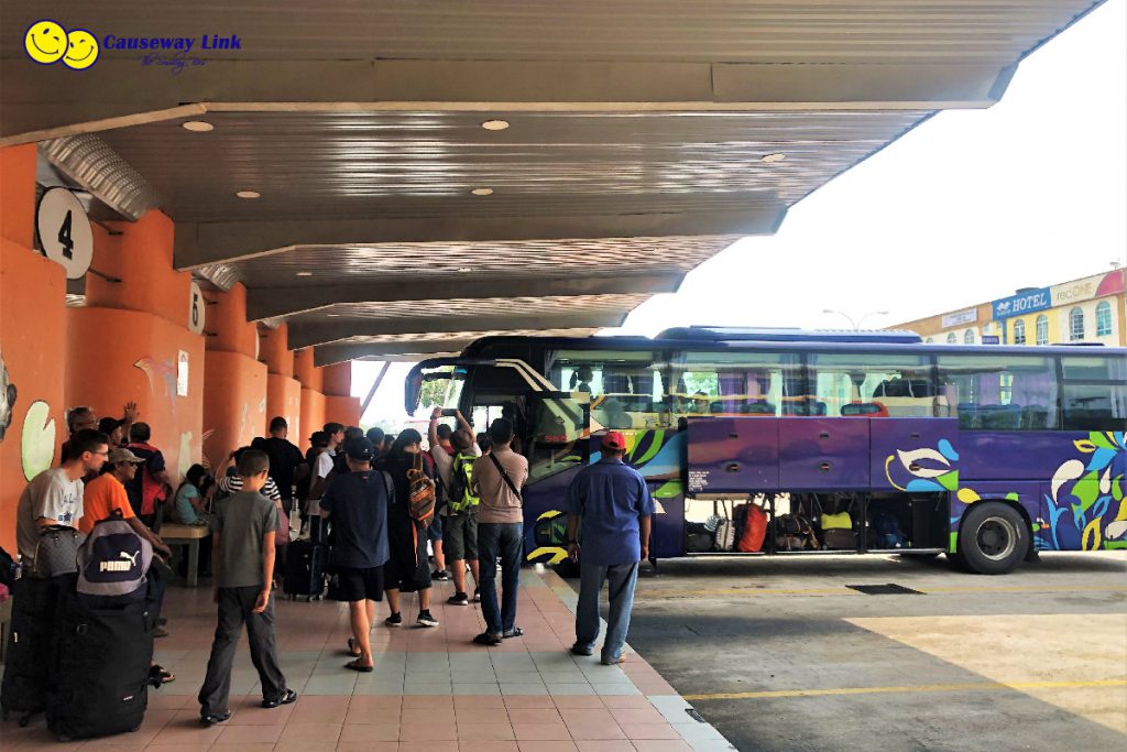
M 1047 357 L 942 355 L 939 395 L 959 427 L 1044 431 L 1057 426 L 1056 372 Z

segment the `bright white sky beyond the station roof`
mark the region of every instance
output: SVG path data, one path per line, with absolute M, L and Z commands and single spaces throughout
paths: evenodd
M 1127 0 L 1110 0 L 1022 61 L 999 104 L 938 114 L 604 334 L 956 310 L 1127 264 L 1125 206 Z M 378 368 L 354 363 L 354 395 Z M 365 425 L 402 424 L 408 369 L 392 364 Z

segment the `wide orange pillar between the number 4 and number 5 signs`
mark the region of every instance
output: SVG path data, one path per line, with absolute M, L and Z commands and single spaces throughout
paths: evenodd
M 190 275 L 172 268 L 174 222 L 150 211 L 95 232 L 87 304 L 68 309 L 66 404 L 119 415 L 135 400 L 179 480 L 201 459 L 204 337 L 188 329 Z

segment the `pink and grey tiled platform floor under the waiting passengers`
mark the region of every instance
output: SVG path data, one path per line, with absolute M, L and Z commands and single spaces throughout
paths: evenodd
M 720 734 L 686 713 L 662 676 L 630 653 L 621 667 L 571 656 L 575 593 L 554 573 L 522 573 L 521 638 L 495 648 L 473 645 L 483 628 L 478 605 L 446 605 L 453 592 L 436 583 L 432 611 L 442 625 L 414 626 L 417 601 L 405 599 L 408 626 L 373 630 L 376 669 L 343 669 L 346 607 L 331 602 L 277 604 L 282 666 L 301 693 L 291 706 L 259 707 L 257 675 L 245 646 L 231 685 L 231 719 L 204 728 L 195 695 L 203 681 L 214 607 L 207 589 L 169 591 L 171 636 L 157 660 L 176 682 L 150 693 L 144 724 L 132 734 L 62 744 L 42 717 L 26 729 L 0 725 L 0 746 L 53 750 L 363 750 L 390 752 L 564 752 L 730 750 Z M 597 656 L 597 651 L 596 651 Z

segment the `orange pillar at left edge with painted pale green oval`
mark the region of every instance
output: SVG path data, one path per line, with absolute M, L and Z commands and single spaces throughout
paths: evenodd
M 16 552 L 27 480 L 59 461 L 66 274 L 33 250 L 35 144 L 0 149 L 0 546 Z

